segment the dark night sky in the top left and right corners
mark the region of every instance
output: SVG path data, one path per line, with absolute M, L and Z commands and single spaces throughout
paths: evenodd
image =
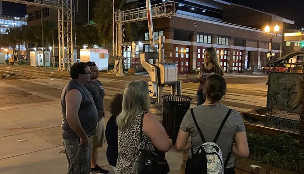
M 224 0 L 231 2 L 231 0 Z M 22 4 L 16 4 L 12 2 L 3 3 L 3 14 L 11 16 L 24 16 L 26 15 L 26 6 Z M 303 0 L 232 0 L 232 3 L 245 5 L 261 10 L 268 13 L 272 13 L 278 16 L 283 16 L 286 19 L 294 20 L 295 25 L 298 28 L 304 26 L 304 19 L 302 18 L 301 12 L 303 11 L 304 1 Z

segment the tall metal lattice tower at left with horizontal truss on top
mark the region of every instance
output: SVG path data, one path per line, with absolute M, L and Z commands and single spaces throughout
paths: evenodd
M 76 37 L 74 28 L 74 0 L 2 0 L 58 10 L 59 70 L 69 70 L 74 63 Z M 29 2 L 30 1 L 30 2 Z M 73 36 L 74 35 L 74 36 Z M 74 44 L 75 43 L 75 44 Z M 53 48 L 54 49 L 54 48 Z M 67 67 L 67 68 L 66 68 Z

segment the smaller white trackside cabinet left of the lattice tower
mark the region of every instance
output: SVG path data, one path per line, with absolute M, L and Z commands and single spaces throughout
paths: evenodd
M 41 67 L 43 66 L 43 51 L 31 51 L 31 66 L 33 67 Z M 45 66 L 50 67 L 50 52 L 44 51 L 45 54 Z

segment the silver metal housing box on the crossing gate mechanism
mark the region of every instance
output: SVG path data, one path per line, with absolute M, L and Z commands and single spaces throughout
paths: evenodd
M 162 85 L 176 83 L 178 69 L 175 63 L 161 62 L 157 63 L 157 67 L 160 69 L 159 75 Z

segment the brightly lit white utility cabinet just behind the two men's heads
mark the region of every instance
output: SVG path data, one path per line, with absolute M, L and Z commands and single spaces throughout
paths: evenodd
M 108 70 L 109 50 L 102 48 L 89 48 L 80 50 L 80 62 L 95 62 L 99 71 Z

